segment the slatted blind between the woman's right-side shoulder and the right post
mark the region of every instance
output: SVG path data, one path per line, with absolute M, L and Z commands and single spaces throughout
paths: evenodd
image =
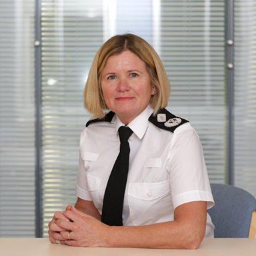
M 160 56 L 171 83 L 167 109 L 190 121 L 210 181 L 225 183 L 225 1 L 161 1 Z

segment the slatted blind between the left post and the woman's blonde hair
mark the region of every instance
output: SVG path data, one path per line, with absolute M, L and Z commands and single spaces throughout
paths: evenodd
M 103 43 L 103 3 L 41 1 L 43 235 L 55 211 L 74 204 L 79 137 L 89 119 L 83 89 Z

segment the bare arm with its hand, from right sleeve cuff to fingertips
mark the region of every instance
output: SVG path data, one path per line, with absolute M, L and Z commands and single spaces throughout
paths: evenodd
M 207 202 L 193 201 L 175 209 L 174 221 L 139 227 L 110 227 L 97 219 L 71 208 L 63 215 L 72 221 L 57 220 L 65 243 L 80 247 L 140 247 L 197 249 L 205 236 Z

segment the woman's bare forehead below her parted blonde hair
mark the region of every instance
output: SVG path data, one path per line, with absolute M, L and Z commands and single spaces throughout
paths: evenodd
M 131 51 L 123 51 L 120 54 L 111 55 L 106 62 L 104 69 L 116 68 L 146 68 L 145 62 L 142 61 L 135 53 Z

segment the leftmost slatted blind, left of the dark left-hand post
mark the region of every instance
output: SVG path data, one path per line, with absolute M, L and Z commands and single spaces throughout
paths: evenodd
M 35 236 L 34 15 L 0 1 L 0 237 Z

